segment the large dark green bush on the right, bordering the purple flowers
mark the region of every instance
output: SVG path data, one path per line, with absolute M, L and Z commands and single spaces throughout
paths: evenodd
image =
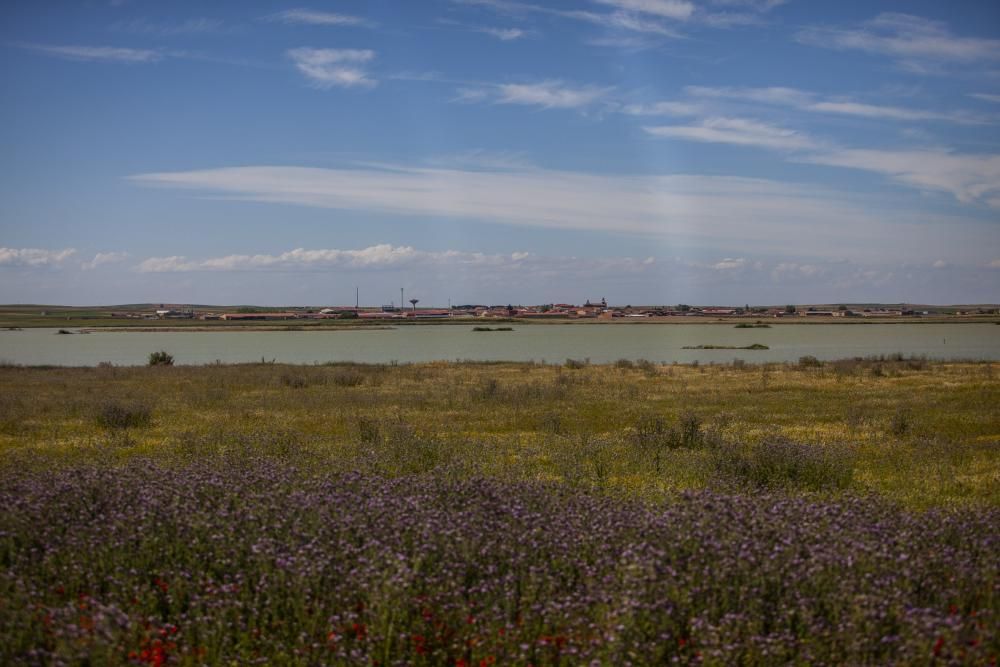
M 846 489 L 854 477 L 851 452 L 837 445 L 807 445 L 770 438 L 757 445 L 724 443 L 715 449 L 721 480 L 755 489 Z

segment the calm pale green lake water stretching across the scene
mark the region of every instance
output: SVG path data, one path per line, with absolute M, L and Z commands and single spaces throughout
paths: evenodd
M 58 335 L 56 329 L 0 331 L 0 361 L 94 366 L 145 364 L 167 350 L 178 364 L 268 361 L 399 363 L 472 359 L 545 361 L 567 358 L 607 363 L 617 359 L 727 363 L 795 361 L 891 354 L 934 359 L 1000 360 L 1000 326 L 993 324 L 810 324 L 735 329 L 722 324 L 513 325 L 512 332 L 473 332 L 469 326 L 277 332 L 118 332 Z M 685 345 L 750 345 L 769 350 L 685 350 Z

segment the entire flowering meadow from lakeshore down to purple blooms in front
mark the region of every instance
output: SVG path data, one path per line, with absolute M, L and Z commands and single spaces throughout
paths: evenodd
M 5 664 L 990 664 L 1000 378 L 0 368 Z

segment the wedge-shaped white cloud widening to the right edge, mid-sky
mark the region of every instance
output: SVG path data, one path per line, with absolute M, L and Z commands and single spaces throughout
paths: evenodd
M 985 201 L 993 208 L 1000 196 L 1000 155 L 971 155 L 945 150 L 837 149 L 802 158 L 803 162 L 885 174 L 922 190 L 947 192 L 963 203 Z

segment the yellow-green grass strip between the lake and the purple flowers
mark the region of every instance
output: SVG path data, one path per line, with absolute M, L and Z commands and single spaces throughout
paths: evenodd
M 13 367 L 0 369 L 0 451 L 172 459 L 233 443 L 264 452 L 280 443 L 336 469 L 397 475 L 447 464 L 646 498 L 728 479 L 875 493 L 911 508 L 996 506 L 995 374 L 990 363 L 809 359 Z M 140 418 L 112 417 L 109 425 L 105 417 L 116 411 Z M 780 447 L 829 454 L 823 465 L 831 479 L 806 470 L 759 480 L 725 472 L 726 457 L 752 464 Z

